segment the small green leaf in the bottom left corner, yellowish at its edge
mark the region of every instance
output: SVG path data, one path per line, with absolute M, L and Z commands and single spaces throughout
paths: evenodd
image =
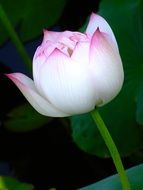
M 21 183 L 18 180 L 7 177 L 0 176 L 0 190 L 33 190 L 33 185 Z

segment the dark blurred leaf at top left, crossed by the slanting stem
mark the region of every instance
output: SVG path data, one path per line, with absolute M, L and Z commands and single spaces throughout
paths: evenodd
M 60 18 L 66 0 L 1 0 L 4 11 L 12 25 L 18 27 L 22 41 L 41 34 L 43 28 L 53 26 Z M 0 44 L 8 39 L 0 22 Z

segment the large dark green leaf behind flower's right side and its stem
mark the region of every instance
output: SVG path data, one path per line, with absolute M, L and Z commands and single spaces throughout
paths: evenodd
M 99 110 L 120 153 L 128 155 L 143 147 L 143 1 L 102 0 L 99 14 L 115 33 L 125 71 L 120 94 Z M 109 155 L 90 114 L 74 116 L 71 123 L 82 150 Z

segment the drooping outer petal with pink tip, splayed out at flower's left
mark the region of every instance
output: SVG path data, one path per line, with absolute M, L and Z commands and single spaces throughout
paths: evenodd
M 34 86 L 34 82 L 22 73 L 7 74 L 29 103 L 42 115 L 51 117 L 64 117 L 68 114 L 56 109 L 50 102 L 40 96 Z

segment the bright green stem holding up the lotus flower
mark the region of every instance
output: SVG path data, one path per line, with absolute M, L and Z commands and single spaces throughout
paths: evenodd
M 108 147 L 111 157 L 113 159 L 113 162 L 115 164 L 115 167 L 117 169 L 117 172 L 119 174 L 121 183 L 122 183 L 122 187 L 123 190 L 131 190 L 131 186 L 130 183 L 128 181 L 126 172 L 124 170 L 119 152 L 117 150 L 117 147 L 106 127 L 106 125 L 104 124 L 99 112 L 97 111 L 97 109 L 95 109 L 94 111 L 91 112 L 92 118 L 95 121 L 98 130 L 100 131 L 101 136 L 103 137 L 106 146 Z

